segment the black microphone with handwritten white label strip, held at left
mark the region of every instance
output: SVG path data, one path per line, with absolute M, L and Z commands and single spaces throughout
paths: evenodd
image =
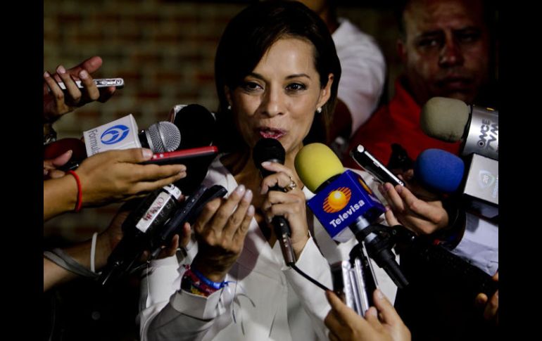
M 127 274 L 151 240 L 179 207 L 181 191 L 175 185 L 149 193 L 122 223 L 122 239 L 107 259 L 98 278 L 101 285 L 113 283 Z

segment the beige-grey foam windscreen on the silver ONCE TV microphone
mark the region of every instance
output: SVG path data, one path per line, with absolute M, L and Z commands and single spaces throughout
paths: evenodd
M 420 127 L 428 136 L 441 141 L 462 139 L 469 122 L 470 108 L 454 98 L 433 97 L 422 107 Z

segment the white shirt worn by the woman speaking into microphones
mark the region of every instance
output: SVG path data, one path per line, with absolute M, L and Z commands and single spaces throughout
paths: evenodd
M 204 184 L 220 184 L 229 193 L 237 187 L 218 158 Z M 332 288 L 329 261 L 348 259 L 356 242 L 336 245 L 319 223 L 314 224 L 313 238 L 296 266 Z M 189 247 L 182 263 L 191 263 L 196 253 L 197 245 Z M 396 287 L 377 269 L 381 290 L 393 302 Z M 324 318 L 331 307 L 324 291 L 284 266 L 279 243 L 270 247 L 255 219 L 241 256 L 227 274 L 226 281 L 233 283 L 209 297 L 178 291 L 184 268 L 176 257 L 153 261 L 148 271 L 141 281 L 141 340 L 327 340 Z

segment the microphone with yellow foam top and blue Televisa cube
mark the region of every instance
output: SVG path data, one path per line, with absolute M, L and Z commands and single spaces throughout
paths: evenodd
M 377 219 L 384 205 L 365 181 L 351 170 L 344 170 L 335 153 L 322 143 L 311 143 L 299 150 L 295 160 L 303 184 L 317 193 L 308 200 L 324 229 L 334 240 L 346 242 L 355 236 L 365 244 L 368 255 L 390 276 L 398 288 L 408 285 L 391 247 L 377 231 Z

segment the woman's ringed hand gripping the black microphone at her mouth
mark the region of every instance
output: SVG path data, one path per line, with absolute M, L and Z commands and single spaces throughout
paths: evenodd
M 301 191 L 301 186 L 298 186 L 301 181 L 291 169 L 277 162 L 263 162 L 262 166 L 275 172 L 262 180 L 260 194 L 266 195 L 262 204 L 263 214 L 270 229 L 273 228 L 270 225 L 273 217 L 283 216 L 288 220 L 291 229 L 291 247 L 298 258 L 309 239 L 305 194 Z M 270 191 L 270 188 L 277 185 L 280 188 L 289 188 L 292 181 L 295 187 L 286 193 Z

